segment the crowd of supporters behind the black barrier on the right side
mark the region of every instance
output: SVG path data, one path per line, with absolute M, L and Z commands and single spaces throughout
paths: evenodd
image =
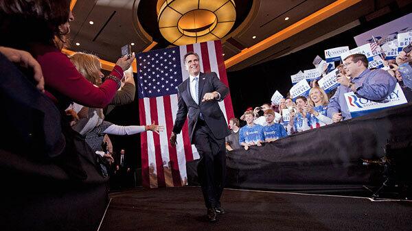
M 246 125 L 240 128 L 238 119 L 231 119 L 231 134 L 226 139 L 227 150 L 242 147 L 247 150 L 253 145 L 262 146 L 262 143 L 273 142 L 290 134 L 351 119 L 344 98 L 344 94 L 351 91 L 357 97 L 379 102 L 393 92 L 398 82 L 406 99 L 410 101 L 412 86 L 405 85 L 403 80 L 412 80 L 411 64 L 412 52 L 400 51 L 396 60 L 385 61 L 384 69 L 370 70 L 365 55 L 355 53 L 347 56 L 336 67 L 339 69 L 336 82 L 340 86 L 330 94 L 325 93 L 314 80 L 310 82 L 308 97 L 298 96 L 295 101 L 286 97 L 277 104 L 265 103 L 260 107 L 247 108 L 240 117 L 246 121 Z M 289 112 L 288 117 L 282 116 L 285 110 Z

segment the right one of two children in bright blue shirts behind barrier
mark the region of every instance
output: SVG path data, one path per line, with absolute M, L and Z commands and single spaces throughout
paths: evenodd
M 264 111 L 267 125 L 263 127 L 264 141 L 266 143 L 276 141 L 278 138 L 288 136 L 286 130 L 279 123 L 275 123 L 275 111 L 268 109 Z

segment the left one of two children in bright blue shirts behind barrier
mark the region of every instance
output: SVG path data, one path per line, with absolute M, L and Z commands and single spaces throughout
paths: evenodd
M 263 127 L 262 125 L 254 124 L 253 117 L 253 111 L 248 110 L 244 112 L 244 119 L 246 119 L 247 125 L 239 130 L 239 143 L 245 150 L 253 145 L 262 146 L 264 142 Z

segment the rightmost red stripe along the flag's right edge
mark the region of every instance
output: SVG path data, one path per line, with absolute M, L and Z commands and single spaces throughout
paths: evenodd
M 225 62 L 223 61 L 223 56 L 222 56 L 222 43 L 220 40 L 214 41 L 215 44 L 215 50 L 216 50 L 216 60 L 218 61 L 218 70 L 219 70 L 219 76 L 220 76 L 220 81 L 225 84 L 229 88 L 229 82 L 227 81 L 227 75 L 226 75 L 226 67 L 225 67 Z M 225 108 L 226 108 L 226 116 L 227 120 L 235 117 L 235 114 L 233 112 L 233 106 L 231 104 L 231 97 L 230 97 L 230 88 L 229 88 L 229 94 L 225 97 Z

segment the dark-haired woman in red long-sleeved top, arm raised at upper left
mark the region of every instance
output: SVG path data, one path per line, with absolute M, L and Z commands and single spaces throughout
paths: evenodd
M 135 56 L 119 58 L 106 81 L 98 88 L 88 82 L 69 58 L 60 51 L 74 17 L 69 0 L 3 0 L 0 2 L 0 45 L 23 49 L 41 65 L 45 94 L 60 112 L 76 101 L 84 106 L 104 108 L 114 97 L 123 71 Z

